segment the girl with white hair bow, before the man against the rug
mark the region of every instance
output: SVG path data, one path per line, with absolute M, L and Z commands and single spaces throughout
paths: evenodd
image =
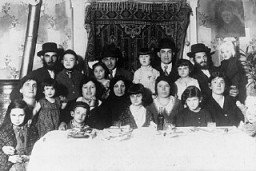
M 102 85 L 102 95 L 101 99 L 107 99 L 109 96 L 109 84 L 110 80 L 108 79 L 109 70 L 106 65 L 102 62 L 97 62 L 93 65 L 93 74 L 96 80 Z

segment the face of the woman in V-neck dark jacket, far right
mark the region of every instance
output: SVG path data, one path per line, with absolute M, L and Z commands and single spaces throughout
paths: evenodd
M 225 91 L 225 80 L 221 77 L 216 77 L 211 81 L 210 89 L 212 93 L 222 95 Z

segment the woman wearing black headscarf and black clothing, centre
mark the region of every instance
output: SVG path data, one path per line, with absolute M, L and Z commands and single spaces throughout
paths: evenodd
M 131 81 L 122 76 L 113 78 L 110 81 L 110 94 L 106 100 L 106 105 L 110 109 L 112 123 L 119 120 L 121 113 L 130 105 L 127 90 Z

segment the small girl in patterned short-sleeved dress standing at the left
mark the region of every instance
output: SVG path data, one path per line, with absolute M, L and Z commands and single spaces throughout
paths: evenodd
M 40 137 L 49 131 L 58 129 L 60 109 L 64 109 L 67 104 L 63 99 L 55 96 L 56 87 L 55 80 L 45 80 L 42 83 L 45 97 L 39 100 L 33 110 L 33 117 L 38 113 L 37 129 Z

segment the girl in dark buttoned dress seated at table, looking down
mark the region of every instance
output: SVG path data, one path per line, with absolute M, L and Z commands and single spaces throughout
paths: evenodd
M 195 86 L 189 86 L 182 94 L 182 103 L 186 106 L 178 115 L 176 126 L 205 127 L 207 122 L 212 122 L 210 113 L 202 109 L 201 91 Z

